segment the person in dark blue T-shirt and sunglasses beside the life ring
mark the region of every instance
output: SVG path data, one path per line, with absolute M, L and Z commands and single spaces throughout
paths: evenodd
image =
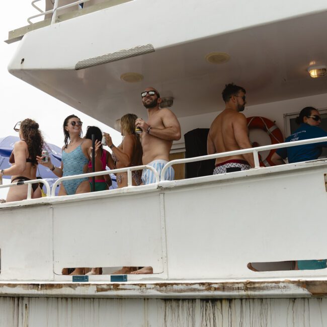
M 320 114 L 313 107 L 303 108 L 295 121 L 300 127 L 285 142 L 327 136 L 327 132 L 319 127 Z M 286 158 L 288 163 L 315 160 L 320 156 L 322 147 L 327 147 L 327 142 L 284 147 L 277 149 L 271 159 L 275 165 L 283 165 Z

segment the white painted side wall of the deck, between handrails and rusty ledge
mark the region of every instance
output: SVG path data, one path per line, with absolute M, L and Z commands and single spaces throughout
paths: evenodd
M 253 272 L 247 265 L 327 258 L 326 165 L 0 205 L 0 279 L 56 280 L 53 269 L 147 265 L 156 275 L 139 278 L 325 278 L 326 270 Z

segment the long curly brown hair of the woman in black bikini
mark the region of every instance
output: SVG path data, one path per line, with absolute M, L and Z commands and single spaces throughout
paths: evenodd
M 36 156 L 41 156 L 44 147 L 43 136 L 39 130 L 39 124 L 32 119 L 24 119 L 21 122 L 20 131 L 25 140 L 32 165 L 37 165 Z

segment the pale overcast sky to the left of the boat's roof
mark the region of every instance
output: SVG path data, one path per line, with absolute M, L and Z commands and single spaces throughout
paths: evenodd
M 36 120 L 43 132 L 45 141 L 59 147 L 63 145 L 62 123 L 68 115 L 74 114 L 83 121 L 85 133 L 88 125 L 95 125 L 112 135 L 113 142 L 121 142 L 120 133 L 111 129 L 96 119 L 87 116 L 72 107 L 52 98 L 48 94 L 30 86 L 17 77 L 11 75 L 7 66 L 11 60 L 19 41 L 7 44 L 8 32 L 28 25 L 27 18 L 38 14 L 31 6 L 32 0 L 2 1 L 0 16 L 0 138 L 15 135 L 14 126 L 25 118 Z M 37 4 L 42 4 L 40 1 Z M 41 7 L 41 5 L 40 5 Z M 7 191 L 0 190 L 0 198 L 5 198 Z

